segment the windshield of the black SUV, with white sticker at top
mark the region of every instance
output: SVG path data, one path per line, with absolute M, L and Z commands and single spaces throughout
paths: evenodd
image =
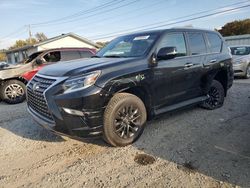
M 140 57 L 152 47 L 159 34 L 136 34 L 118 37 L 101 49 L 98 57 Z

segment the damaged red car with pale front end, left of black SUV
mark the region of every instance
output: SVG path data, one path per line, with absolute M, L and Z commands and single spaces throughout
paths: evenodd
M 60 61 L 90 58 L 95 49 L 58 48 L 36 52 L 24 63 L 5 65 L 0 69 L 0 98 L 9 104 L 21 103 L 26 99 L 26 84 L 42 67 Z

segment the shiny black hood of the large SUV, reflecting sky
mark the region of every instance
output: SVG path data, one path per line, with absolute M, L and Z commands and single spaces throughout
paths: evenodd
M 89 71 L 102 70 L 105 67 L 126 64 L 137 58 L 90 58 L 65 61 L 44 67 L 38 74 L 62 77 L 77 76 Z

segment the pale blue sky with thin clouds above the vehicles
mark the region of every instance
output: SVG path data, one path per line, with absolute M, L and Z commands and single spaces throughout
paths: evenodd
M 249 4 L 247 0 L 0 0 L 0 49 L 17 39 L 28 38 L 29 24 L 33 34 L 44 32 L 54 37 L 74 32 L 94 41 L 105 41 L 153 26 L 220 28 L 229 21 L 250 18 L 250 7 L 232 10 Z M 185 21 L 225 10 L 232 11 Z M 203 11 L 206 12 L 196 14 Z M 188 17 L 191 14 L 195 15 Z

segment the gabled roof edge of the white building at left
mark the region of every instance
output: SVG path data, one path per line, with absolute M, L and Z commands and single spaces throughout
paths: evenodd
M 6 53 L 10 53 L 10 52 L 16 52 L 16 51 L 22 51 L 22 50 L 26 50 L 26 49 L 29 49 L 31 47 L 37 47 L 37 46 L 41 46 L 41 45 L 44 45 L 44 44 L 47 44 L 47 43 L 50 43 L 50 42 L 53 42 L 53 41 L 56 41 L 56 40 L 60 40 L 62 38 L 65 38 L 65 37 L 73 37 L 77 40 L 80 40 L 84 43 L 87 43 L 95 48 L 100 48 L 100 45 L 86 39 L 86 38 L 83 38 L 75 33 L 67 33 L 67 34 L 62 34 L 62 35 L 59 35 L 59 36 L 56 36 L 56 37 L 53 37 L 53 38 L 49 38 L 45 41 L 42 41 L 42 42 L 39 42 L 39 43 L 36 43 L 36 44 L 33 44 L 33 45 L 26 45 L 26 46 L 23 46 L 21 48 L 15 48 L 15 49 L 11 49 L 11 50 L 7 50 Z

